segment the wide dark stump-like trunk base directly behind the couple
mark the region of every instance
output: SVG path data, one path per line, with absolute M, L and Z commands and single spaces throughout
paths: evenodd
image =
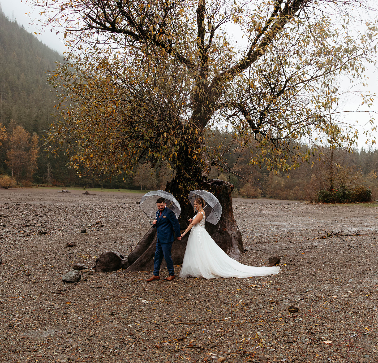
M 178 182 L 180 178 L 175 178 L 172 182 L 167 183 L 166 190 L 177 196 L 180 189 Z M 223 249 L 230 257 L 235 260 L 240 260 L 244 247 L 242 241 L 242 234 L 236 224 L 234 213 L 232 210 L 232 197 L 231 191 L 234 185 L 219 179 L 206 179 L 203 178 L 198 181 L 198 189 L 207 190 L 212 192 L 219 200 L 222 206 L 222 216 L 217 225 L 205 221 L 206 231 L 209 232 L 214 241 Z M 180 198 L 181 199 L 181 198 Z M 179 199 L 179 200 L 180 200 Z M 188 226 L 188 218 L 193 217 L 194 210 L 188 199 L 180 200 L 181 215 L 179 218 L 181 231 L 184 231 Z M 172 245 L 172 260 L 174 265 L 181 265 L 184 259 L 186 243 L 189 237 L 187 233 L 181 241 L 175 239 Z M 153 257 L 155 255 L 156 246 L 156 229 L 151 228 L 138 242 L 135 249 L 129 254 L 127 262 L 128 267 L 124 272 L 129 271 L 147 271 L 153 268 Z M 209 256 L 211 258 L 211 256 Z M 160 266 L 161 269 L 167 265 L 163 259 Z M 178 274 L 180 271 L 176 270 Z

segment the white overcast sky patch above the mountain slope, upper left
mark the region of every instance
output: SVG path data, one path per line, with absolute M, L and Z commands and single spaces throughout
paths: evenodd
M 30 33 L 34 31 L 38 34 L 36 37 L 48 45 L 50 48 L 58 51 L 59 53 L 63 53 L 65 51 L 64 42 L 62 42 L 63 34 L 56 32 L 51 33 L 50 31 L 46 31 L 39 35 L 40 29 L 36 28 L 34 25 L 30 25 L 32 19 L 36 17 L 36 13 L 33 13 L 33 8 L 29 5 L 25 4 L 26 0 L 0 0 L 1 8 L 3 13 L 9 19 L 17 19 L 17 23 L 23 25 L 26 30 Z

